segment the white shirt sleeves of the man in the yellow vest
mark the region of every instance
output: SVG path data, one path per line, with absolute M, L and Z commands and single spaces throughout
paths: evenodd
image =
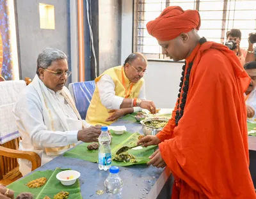
M 109 75 L 103 75 L 99 82 L 97 82 L 99 89 L 100 101 L 104 107 L 113 110 L 119 110 L 124 98 L 115 95 L 115 83 Z M 139 99 L 146 99 L 145 96 L 145 83 L 140 89 Z M 134 112 L 141 110 L 140 107 L 134 107 Z

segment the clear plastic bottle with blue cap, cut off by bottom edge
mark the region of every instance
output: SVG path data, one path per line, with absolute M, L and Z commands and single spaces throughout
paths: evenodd
M 121 198 L 123 181 L 119 177 L 118 172 L 118 166 L 111 166 L 109 168 L 109 175 L 104 182 L 108 198 Z

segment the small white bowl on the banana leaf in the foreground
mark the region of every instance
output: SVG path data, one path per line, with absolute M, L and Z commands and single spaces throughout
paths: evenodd
M 67 179 L 72 177 L 72 179 Z M 80 173 L 75 170 L 65 170 L 56 175 L 56 178 L 63 184 L 64 186 L 70 186 L 75 184 L 76 179 L 80 177 Z

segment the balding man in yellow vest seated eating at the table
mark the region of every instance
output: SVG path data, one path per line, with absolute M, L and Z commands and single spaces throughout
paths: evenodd
M 146 108 L 152 114 L 156 106 L 145 99 L 143 75 L 147 70 L 147 59 L 140 53 L 132 53 L 123 66 L 104 71 L 95 78 L 96 88 L 86 114 L 89 124 L 109 125 L 119 117 L 140 108 Z

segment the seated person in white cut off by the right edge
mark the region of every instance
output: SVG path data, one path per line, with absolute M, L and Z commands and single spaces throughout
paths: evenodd
M 251 78 L 248 89 L 244 92 L 244 98 L 247 110 L 247 121 L 256 123 L 256 61 L 244 64 L 244 69 Z

